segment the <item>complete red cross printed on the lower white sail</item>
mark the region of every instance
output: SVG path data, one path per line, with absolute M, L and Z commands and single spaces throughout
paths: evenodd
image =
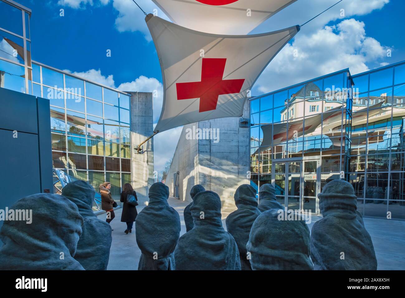
M 218 96 L 241 92 L 245 79 L 223 80 L 226 58 L 203 58 L 201 81 L 176 83 L 177 100 L 200 99 L 200 112 L 217 108 Z

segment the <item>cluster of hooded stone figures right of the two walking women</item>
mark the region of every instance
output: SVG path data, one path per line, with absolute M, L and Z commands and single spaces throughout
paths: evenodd
M 303 217 L 277 202 L 275 189 L 243 184 L 235 192 L 237 210 L 221 220 L 221 199 L 195 185 L 184 209 L 187 232 L 168 205 L 168 187 L 155 183 L 149 206 L 136 218 L 142 251 L 138 270 L 376 270 L 373 242 L 357 211 L 352 185 L 333 180 L 318 195 L 323 218 L 311 231 Z M 280 216 L 280 215 L 286 216 Z M 290 220 L 290 218 L 296 220 Z

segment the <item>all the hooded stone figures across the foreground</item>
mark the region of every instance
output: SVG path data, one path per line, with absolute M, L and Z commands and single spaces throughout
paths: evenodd
M 11 208 L 31 209 L 32 223 L 5 221 L 0 230 L 0 269 L 105 270 L 111 227 L 92 211 L 95 191 L 83 181 L 67 184 L 62 195 L 24 197 Z M 138 270 L 376 270 L 371 237 L 356 210 L 350 183 L 333 180 L 318 195 L 323 218 L 309 233 L 304 220 L 280 219 L 284 210 L 275 189 L 243 184 L 237 210 L 221 219 L 221 199 L 195 185 L 184 210 L 187 232 L 169 206 L 169 189 L 155 183 L 149 204 L 135 221 L 141 249 Z M 290 214 L 291 215 L 291 214 Z M 292 217 L 294 218 L 294 217 Z

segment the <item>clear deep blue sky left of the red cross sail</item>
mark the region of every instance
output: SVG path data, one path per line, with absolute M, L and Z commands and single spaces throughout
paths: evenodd
M 118 11 L 112 1 L 105 6 L 87 4 L 85 9 L 59 5 L 57 0 L 18 2 L 32 9 L 34 60 L 77 72 L 101 69 L 103 74 L 114 75 L 116 86 L 140 75 L 162 80 L 153 42 L 140 32 L 118 31 Z M 61 8 L 64 17 L 59 15 Z M 137 12 L 136 17 L 143 20 L 143 13 Z M 111 57 L 107 57 L 107 49 L 111 49 Z

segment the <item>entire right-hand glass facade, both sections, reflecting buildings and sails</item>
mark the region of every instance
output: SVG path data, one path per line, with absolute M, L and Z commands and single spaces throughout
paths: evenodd
M 253 98 L 251 181 L 273 183 L 288 208 L 319 213 L 322 187 L 345 179 L 363 215 L 405 219 L 404 98 L 405 62 Z

